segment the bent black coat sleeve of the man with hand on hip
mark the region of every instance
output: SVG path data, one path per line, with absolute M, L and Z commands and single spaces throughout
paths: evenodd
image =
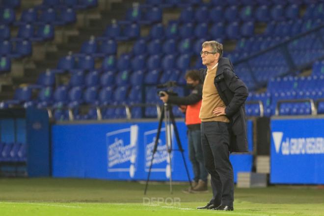
M 227 87 L 233 92 L 233 98 L 225 108 L 225 113 L 227 116 L 232 116 L 244 104 L 248 90 L 244 82 L 233 71 L 226 69 L 223 75 Z

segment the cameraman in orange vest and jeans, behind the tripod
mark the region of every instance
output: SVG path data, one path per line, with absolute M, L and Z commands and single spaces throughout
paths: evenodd
M 197 70 L 189 70 L 186 73 L 185 79 L 187 86 L 192 89 L 191 93 L 186 97 L 178 97 L 168 95 L 162 92 L 164 96 L 160 99 L 164 103 L 181 105 L 182 112 L 186 112 L 186 125 L 188 127 L 188 142 L 189 142 L 189 159 L 192 164 L 194 179 L 192 188 L 184 190 L 184 192 L 201 192 L 207 191 L 207 175 L 205 168 L 203 152 L 201 147 L 201 132 L 199 111 L 202 102 L 202 84 L 200 82 Z

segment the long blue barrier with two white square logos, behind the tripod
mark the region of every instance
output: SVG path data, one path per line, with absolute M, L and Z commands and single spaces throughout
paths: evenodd
M 95 123 L 54 125 L 52 128 L 53 176 L 98 178 L 113 180 L 145 180 L 152 157 L 158 122 Z M 186 162 L 192 177 L 188 157 L 187 127 L 177 122 Z M 252 122 L 248 121 L 248 133 Z M 173 137 L 173 148 L 177 148 Z M 252 135 L 249 136 L 252 149 Z M 166 152 L 165 129 L 159 139 L 154 156 L 151 180 L 167 180 L 170 162 Z M 232 155 L 236 174 L 251 171 L 252 156 Z M 187 181 L 187 174 L 180 152 L 172 153 L 172 179 Z

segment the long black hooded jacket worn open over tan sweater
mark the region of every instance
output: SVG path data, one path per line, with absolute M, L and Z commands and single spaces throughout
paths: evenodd
M 207 69 L 199 71 L 202 82 Z M 219 58 L 214 80 L 218 94 L 226 105 L 225 114 L 231 125 L 231 152 L 247 152 L 247 135 L 244 102 L 248 96 L 246 85 L 234 73 L 232 62 L 228 58 Z

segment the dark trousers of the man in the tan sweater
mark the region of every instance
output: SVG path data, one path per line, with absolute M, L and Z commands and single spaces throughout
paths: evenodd
M 201 144 L 207 171 L 211 174 L 215 205 L 233 206 L 234 174 L 229 160 L 229 123 L 202 122 Z

